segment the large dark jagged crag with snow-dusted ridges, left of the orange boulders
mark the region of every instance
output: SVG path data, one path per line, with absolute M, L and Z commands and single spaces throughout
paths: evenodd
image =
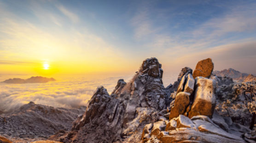
M 104 87 L 97 88 L 86 112 L 71 131 L 50 139 L 64 143 L 112 143 L 129 141 L 132 137 L 139 142 L 140 134 L 134 132 L 142 131 L 145 124 L 167 113 L 164 109 L 166 101 L 170 101 L 162 77 L 163 70 L 156 58 L 144 60 L 131 82 L 120 79 L 111 95 Z

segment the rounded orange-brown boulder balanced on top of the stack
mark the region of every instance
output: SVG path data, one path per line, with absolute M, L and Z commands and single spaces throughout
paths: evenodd
M 196 69 L 193 72 L 193 77 L 207 77 L 211 76 L 213 71 L 213 62 L 210 58 L 198 61 Z

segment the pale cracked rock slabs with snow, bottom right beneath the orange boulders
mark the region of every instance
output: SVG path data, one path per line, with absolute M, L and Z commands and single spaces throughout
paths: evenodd
M 175 122 L 175 120 L 177 122 Z M 152 126 L 159 123 L 147 125 L 145 132 L 147 136 L 142 138 L 143 143 L 245 143 L 244 140 L 236 135 L 222 130 L 213 123 L 208 116 L 198 115 L 192 120 L 184 115 L 171 120 L 165 127 L 165 131 L 158 128 L 152 133 Z M 163 121 L 162 121 L 163 122 Z M 177 125 L 175 125 L 175 123 Z M 164 124 L 163 124 L 164 125 Z M 172 125 L 170 127 L 169 125 Z M 162 126 L 162 129 L 164 127 Z M 156 134 L 157 133 L 157 134 Z

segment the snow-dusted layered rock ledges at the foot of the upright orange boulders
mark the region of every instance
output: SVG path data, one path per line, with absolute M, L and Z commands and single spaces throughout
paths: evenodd
M 141 137 L 142 142 L 246 143 L 239 136 L 250 132 L 249 128 L 233 123 L 231 120 L 226 121 L 220 115 L 215 114 L 212 119 L 205 115 L 196 115 L 191 119 L 179 115 L 170 121 L 161 117 L 161 121 L 145 125 Z M 223 130 L 222 126 L 227 127 L 228 132 Z M 250 141 L 253 143 L 253 140 Z

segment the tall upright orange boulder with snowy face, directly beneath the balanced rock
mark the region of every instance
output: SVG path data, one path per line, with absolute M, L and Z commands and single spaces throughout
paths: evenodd
M 195 80 L 195 99 L 188 113 L 188 117 L 191 118 L 195 115 L 207 115 L 212 117 L 215 108 L 213 81 L 204 77 L 197 77 Z

